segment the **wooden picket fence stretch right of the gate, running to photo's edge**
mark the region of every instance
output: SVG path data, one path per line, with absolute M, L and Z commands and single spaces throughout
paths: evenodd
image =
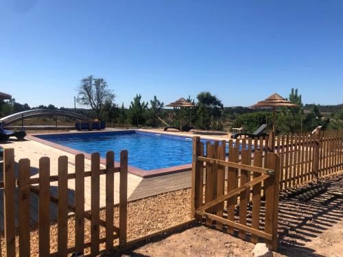
M 343 130 L 317 128 L 314 133 L 278 136 L 275 145 L 281 156 L 281 189 L 343 169 Z

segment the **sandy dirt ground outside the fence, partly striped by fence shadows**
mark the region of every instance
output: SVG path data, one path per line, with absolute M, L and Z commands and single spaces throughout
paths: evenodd
M 307 201 L 281 198 L 279 249 L 274 256 L 343 256 L 343 175 L 326 182 L 327 190 Z M 230 234 L 198 226 L 123 256 L 252 256 L 253 247 Z

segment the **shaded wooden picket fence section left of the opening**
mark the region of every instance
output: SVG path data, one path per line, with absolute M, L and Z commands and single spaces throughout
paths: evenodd
M 114 247 L 115 239 L 119 238 L 119 247 L 126 245 L 127 226 L 127 184 L 128 184 L 128 152 L 121 151 L 120 167 L 115 167 L 114 153 L 106 154 L 106 169 L 100 169 L 99 153 L 91 155 L 91 171 L 84 171 L 84 155 L 75 156 L 75 173 L 68 173 L 68 158 L 58 158 L 58 175 L 50 175 L 50 160 L 47 157 L 40 158 L 39 177 L 30 178 L 29 159 L 19 160 L 16 178 L 14 174 L 14 149 L 5 149 L 3 164 L 3 182 L 0 182 L 4 195 L 4 240 L 5 256 L 16 256 L 16 236 L 19 238 L 19 256 L 30 256 L 30 195 L 38 193 L 38 234 L 39 256 L 67 256 L 73 252 L 84 252 L 90 247 L 91 256 L 99 252 L 99 245 L 105 243 L 106 251 Z M 119 182 L 119 226 L 114 224 L 114 174 L 120 173 Z M 100 176 L 106 176 L 106 216 L 101 219 L 99 215 L 99 187 Z M 91 177 L 91 211 L 84 210 L 84 180 Z M 68 182 L 75 181 L 75 204 L 68 201 Z M 50 183 L 58 182 L 58 196 L 51 194 Z M 18 219 L 19 229 L 15 226 L 15 197 L 19 191 Z M 58 204 L 58 247 L 57 252 L 50 252 L 50 201 Z M 68 213 L 75 213 L 75 233 L 68 233 Z M 84 241 L 85 219 L 90 221 L 91 239 Z M 106 236 L 100 238 L 99 227 L 106 230 Z M 69 234 L 69 236 L 68 236 Z M 72 237 L 72 238 L 71 238 Z M 75 245 L 69 246 L 73 241 Z M 0 249 L 1 255 L 1 249 Z

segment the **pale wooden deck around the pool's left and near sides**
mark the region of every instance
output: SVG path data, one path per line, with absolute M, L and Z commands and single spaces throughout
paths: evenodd
M 69 154 L 60 149 L 43 145 L 34 140 L 25 141 L 12 141 L 5 144 L 1 144 L 4 148 L 14 148 L 16 163 L 22 158 L 29 158 L 31 160 L 31 178 L 38 177 L 39 159 L 43 156 L 50 158 L 51 162 L 51 175 L 57 175 L 58 173 L 58 157 L 68 157 L 68 172 L 73 173 L 75 171 L 75 156 Z M 117 153 L 115 153 L 117 154 Z M 85 171 L 91 170 L 91 161 L 85 160 Z M 104 167 L 103 167 L 104 168 Z M 17 171 L 17 168 L 16 168 Z M 2 180 L 2 167 L 1 167 L 1 180 Z M 144 197 L 150 197 L 160 193 L 167 193 L 170 191 L 176 191 L 182 188 L 189 188 L 191 186 L 191 171 L 184 171 L 181 173 L 174 173 L 171 175 L 163 175 L 155 178 L 140 178 L 137 175 L 128 174 L 128 200 L 133 201 Z M 68 183 L 69 202 L 74 202 L 74 189 L 75 181 L 69 180 Z M 51 182 L 50 191 L 54 195 L 57 195 L 57 182 Z M 85 197 L 85 210 L 91 209 L 91 178 L 85 178 L 84 182 L 84 197 Z M 115 203 L 119 202 L 119 173 L 115 173 Z M 16 203 L 18 195 L 16 192 Z M 100 177 L 100 208 L 105 206 L 105 176 Z M 16 217 L 18 216 L 17 204 Z M 57 219 L 57 205 L 51 202 L 50 206 L 50 219 Z M 38 221 L 38 195 L 36 193 L 31 194 L 31 209 L 30 220 L 32 223 Z M 17 219 L 16 219 L 17 223 Z M 3 230 L 3 189 L 0 191 L 0 230 Z

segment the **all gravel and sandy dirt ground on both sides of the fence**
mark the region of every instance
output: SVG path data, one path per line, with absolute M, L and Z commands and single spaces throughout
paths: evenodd
M 343 174 L 325 178 L 327 191 L 307 201 L 281 197 L 279 211 L 279 251 L 275 256 L 343 256 Z M 284 192 L 281 196 L 285 195 Z M 190 189 L 156 195 L 128 204 L 128 240 L 189 220 Z M 104 219 L 105 212 L 100 213 Z M 115 223 L 118 210 L 115 208 Z M 69 238 L 74 235 L 73 217 L 69 219 Z M 90 221 L 85 221 L 90 228 Z M 100 227 L 101 237 L 105 231 Z M 86 230 L 85 241 L 90 233 Z M 128 256 L 250 256 L 252 243 L 203 226 L 151 241 Z M 158 238 L 156 239 L 158 240 Z M 73 246 L 69 240 L 69 247 Z M 16 238 L 18 245 L 18 238 Z M 31 233 L 32 256 L 38 256 L 38 232 Z M 56 252 L 57 228 L 51 224 L 51 252 Z M 329 248 L 328 248 L 329 247 Z M 3 238 L 1 248 L 4 249 Z M 100 248 L 104 248 L 102 245 Z M 86 249 L 85 253 L 88 253 Z M 3 252 L 4 254 L 4 252 Z M 112 256 L 119 256 L 113 254 Z

